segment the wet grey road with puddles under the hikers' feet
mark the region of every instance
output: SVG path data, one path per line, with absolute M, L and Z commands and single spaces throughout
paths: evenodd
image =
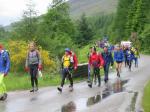
M 135 111 L 140 112 L 143 88 L 150 80 L 150 57 L 142 56 L 139 68 L 129 72 L 124 68 L 121 78 L 115 73 L 110 75 L 108 84 L 96 85 L 92 89 L 86 82 L 74 85 L 69 92 L 68 85 L 60 94 L 56 87 L 40 89 L 37 93 L 29 91 L 10 92 L 5 102 L 0 102 L 0 112 L 131 112 L 132 99 Z

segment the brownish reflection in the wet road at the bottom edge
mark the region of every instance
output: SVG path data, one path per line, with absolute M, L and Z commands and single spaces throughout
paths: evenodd
M 61 112 L 76 112 L 76 104 L 74 102 L 69 102 L 61 108 Z

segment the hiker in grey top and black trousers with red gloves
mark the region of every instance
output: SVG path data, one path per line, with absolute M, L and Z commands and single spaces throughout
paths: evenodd
M 34 42 L 29 44 L 29 51 L 26 57 L 25 70 L 30 73 L 31 86 L 30 92 L 38 91 L 38 70 L 42 70 L 41 54 L 36 49 Z

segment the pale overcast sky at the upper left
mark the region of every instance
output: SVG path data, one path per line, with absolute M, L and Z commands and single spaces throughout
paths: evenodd
M 6 26 L 21 19 L 29 0 L 0 0 L 0 25 Z M 52 0 L 33 0 L 38 14 L 46 13 Z

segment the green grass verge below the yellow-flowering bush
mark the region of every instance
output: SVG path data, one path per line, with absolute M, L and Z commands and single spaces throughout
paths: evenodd
M 8 91 L 14 90 L 27 90 L 31 88 L 29 74 L 14 74 L 10 73 L 5 79 L 5 84 Z M 43 74 L 42 78 L 39 78 L 39 86 L 56 86 L 60 84 L 60 75 L 48 75 Z

